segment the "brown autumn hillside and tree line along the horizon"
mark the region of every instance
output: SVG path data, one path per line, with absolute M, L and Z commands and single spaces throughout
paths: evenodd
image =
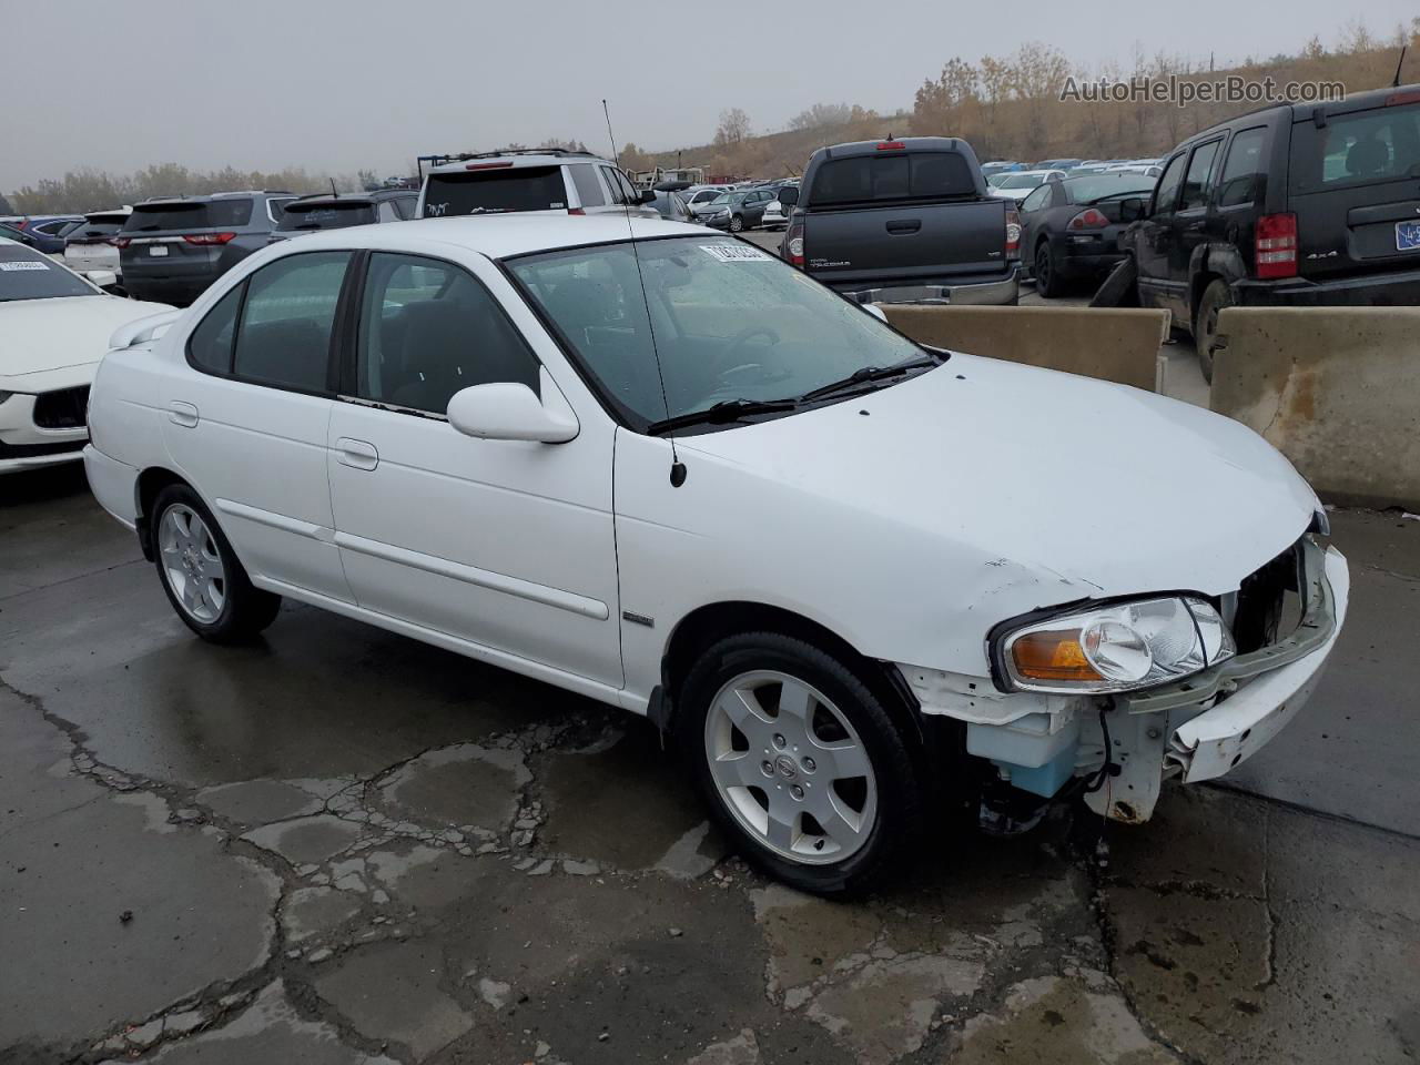
M 1251 111 L 1255 105 L 1194 102 L 1180 108 L 1150 101 L 1062 101 L 1061 88 L 1066 78 L 1085 82 L 1176 77 L 1200 82 L 1227 77 L 1247 81 L 1271 77 L 1278 85 L 1336 81 L 1348 92 L 1359 92 L 1390 84 L 1402 45 L 1410 48 L 1402 84 L 1420 82 L 1420 17 L 1413 18 L 1410 26 L 1394 27 L 1384 37 L 1370 33 L 1360 21 L 1352 21 L 1331 44 L 1314 37 L 1296 55 L 1248 57 L 1240 64 L 1216 70 L 1211 60 L 1200 61 L 1167 51 L 1150 55 L 1139 48 L 1126 64 L 1086 70 L 1049 45 L 1027 43 L 1008 55 L 947 60 L 937 74 L 923 81 L 912 108 L 896 114 L 880 115 L 849 104 L 818 104 L 795 115 L 788 129 L 755 133 L 753 115 L 730 109 L 721 114 L 720 125 L 707 143 L 652 152 L 628 142 L 621 162 L 633 172 L 652 166 L 701 166 L 707 175 L 780 178 L 799 173 L 809 153 L 821 145 L 889 133 L 964 136 L 983 160 L 1156 156 L 1198 129 Z M 540 146 L 581 145 L 561 141 Z M 410 165 L 410 173 L 413 169 Z M 132 175 L 77 169 L 62 178 L 24 186 L 10 193 L 9 199 L 14 212 L 41 214 L 98 210 L 149 196 L 222 189 L 318 192 L 329 189 L 332 180 L 342 190 L 356 190 L 372 183 L 375 175 L 362 170 L 332 176 L 305 169 L 263 173 L 230 166 L 190 170 L 176 163 L 160 163 Z

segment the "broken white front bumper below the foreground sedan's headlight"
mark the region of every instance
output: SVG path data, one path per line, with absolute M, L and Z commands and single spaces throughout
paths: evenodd
M 1116 697 L 1109 737 L 1119 774 L 1085 797 L 1092 809 L 1147 821 L 1166 777 L 1221 777 L 1296 716 L 1321 680 L 1350 595 L 1346 559 L 1335 548 L 1306 540 L 1302 567 L 1306 608 L 1291 636 L 1186 680 Z

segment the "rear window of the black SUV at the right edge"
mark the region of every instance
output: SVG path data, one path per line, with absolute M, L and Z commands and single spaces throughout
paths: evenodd
M 1288 169 L 1298 193 L 1420 178 L 1420 104 L 1298 122 Z

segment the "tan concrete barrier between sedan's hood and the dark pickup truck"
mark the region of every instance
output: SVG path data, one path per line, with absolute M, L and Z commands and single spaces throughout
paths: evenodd
M 1167 311 L 914 304 L 882 310 L 919 344 L 1159 390 L 1156 364 L 1169 338 Z

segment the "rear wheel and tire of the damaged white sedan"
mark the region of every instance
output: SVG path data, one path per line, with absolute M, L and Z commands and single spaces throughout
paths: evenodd
M 212 511 L 186 484 L 153 501 L 153 561 L 178 616 L 213 643 L 240 643 L 275 621 L 281 596 L 251 584 Z

